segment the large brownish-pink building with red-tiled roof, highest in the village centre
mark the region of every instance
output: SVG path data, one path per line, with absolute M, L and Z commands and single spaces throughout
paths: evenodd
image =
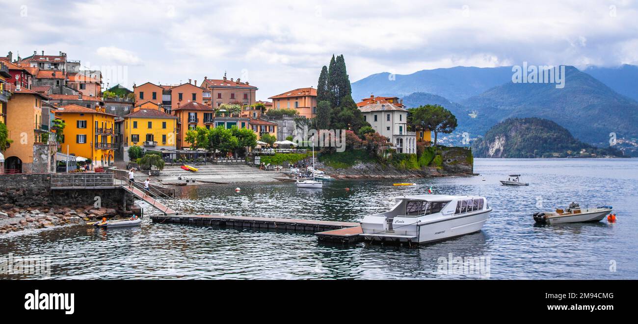
M 212 107 L 219 107 L 223 103 L 239 103 L 240 105 L 254 105 L 257 87 L 248 84 L 248 81 L 241 82 L 224 76 L 221 80 L 204 77 L 204 82 L 200 85 L 203 89 L 211 92 Z

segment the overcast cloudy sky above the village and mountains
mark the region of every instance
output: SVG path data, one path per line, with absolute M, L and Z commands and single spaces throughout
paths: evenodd
M 0 0 L 0 54 L 68 53 L 110 85 L 240 77 L 258 99 L 315 86 L 330 55 L 352 82 L 452 66 L 638 64 L 633 1 Z

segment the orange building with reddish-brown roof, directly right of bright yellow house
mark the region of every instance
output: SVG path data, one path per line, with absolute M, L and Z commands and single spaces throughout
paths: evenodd
M 214 127 L 215 111 L 202 103 L 191 101 L 186 105 L 178 105 L 173 110 L 173 115 L 177 116 L 177 149 L 190 147 L 186 143 L 186 131 L 199 127 Z

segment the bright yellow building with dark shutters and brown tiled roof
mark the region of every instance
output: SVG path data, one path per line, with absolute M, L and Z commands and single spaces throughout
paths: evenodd
M 124 116 L 124 161 L 128 162 L 128 149 L 133 145 L 145 150 L 175 149 L 177 142 L 177 116 L 151 109 L 135 108 Z

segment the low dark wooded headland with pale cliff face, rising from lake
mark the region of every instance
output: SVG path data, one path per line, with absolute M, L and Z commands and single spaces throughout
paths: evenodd
M 616 149 L 583 143 L 553 121 L 510 118 L 496 124 L 472 145 L 477 158 L 553 158 L 622 156 Z

